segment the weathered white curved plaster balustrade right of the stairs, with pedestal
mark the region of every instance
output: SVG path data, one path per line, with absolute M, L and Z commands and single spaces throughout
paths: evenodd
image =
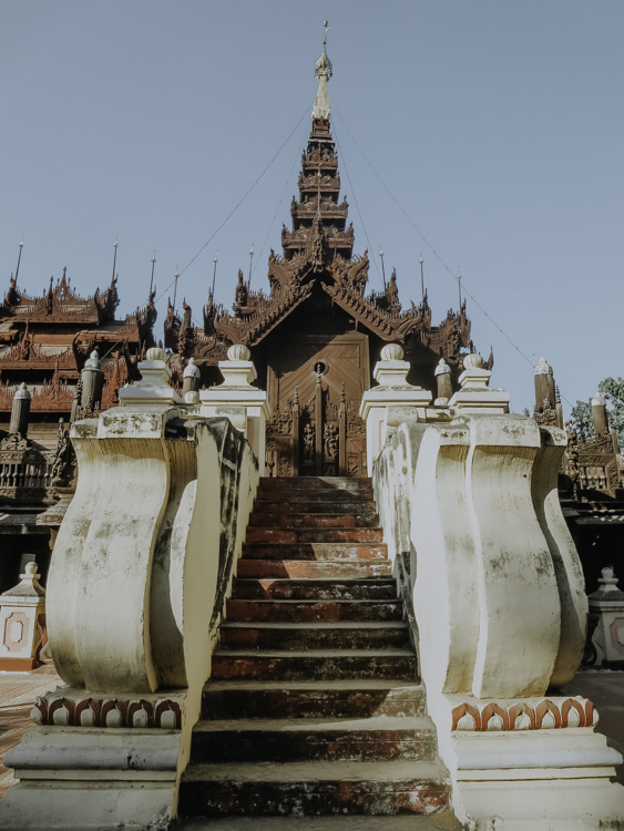
M 453 807 L 472 831 L 624 828 L 591 702 L 548 695 L 580 664 L 587 608 L 556 495 L 564 438 L 501 410 L 406 421 L 374 470 Z

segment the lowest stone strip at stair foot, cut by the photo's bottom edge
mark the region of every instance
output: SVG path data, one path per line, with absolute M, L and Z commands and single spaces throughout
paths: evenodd
M 193 817 L 180 819 L 176 831 L 461 831 L 453 812 L 409 817 Z

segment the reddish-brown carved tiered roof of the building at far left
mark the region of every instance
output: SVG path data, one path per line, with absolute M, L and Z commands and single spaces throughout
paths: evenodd
M 136 362 L 154 345 L 153 299 L 119 320 L 114 275 L 104 291 L 96 289 L 88 298 L 72 289 L 67 269 L 55 285 L 51 278 L 40 296 L 20 290 L 11 277 L 0 304 L 0 440 L 13 394 L 25 382 L 32 396 L 30 432 L 44 444 L 55 444 L 59 418 L 69 421 L 81 370 L 93 349 L 104 371 L 101 409 L 115 406 L 119 388 L 139 377 Z

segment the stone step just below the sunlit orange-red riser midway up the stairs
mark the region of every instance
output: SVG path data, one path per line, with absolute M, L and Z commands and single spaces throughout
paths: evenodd
M 289 601 L 395 601 L 393 579 L 255 579 L 237 577 L 232 597 Z

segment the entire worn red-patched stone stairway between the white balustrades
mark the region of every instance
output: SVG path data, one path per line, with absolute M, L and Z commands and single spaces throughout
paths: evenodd
M 182 828 L 460 828 L 449 798 L 370 480 L 260 480 Z

